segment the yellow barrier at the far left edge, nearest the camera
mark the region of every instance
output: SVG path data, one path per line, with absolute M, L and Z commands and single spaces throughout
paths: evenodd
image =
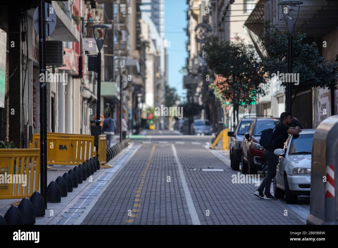
M 39 182 L 40 149 L 0 149 L 0 199 L 30 197 Z

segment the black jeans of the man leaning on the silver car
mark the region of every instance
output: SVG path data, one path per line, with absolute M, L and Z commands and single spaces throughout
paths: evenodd
M 265 195 L 270 193 L 271 180 L 276 175 L 277 164 L 279 162 L 279 156 L 274 155 L 272 151 L 265 149 L 264 157 L 268 167 L 268 173 L 264 177 L 263 182 L 259 186 L 258 190 L 263 192 L 265 188 Z

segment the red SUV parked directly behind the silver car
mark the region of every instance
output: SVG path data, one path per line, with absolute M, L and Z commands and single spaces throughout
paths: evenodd
M 243 174 L 257 174 L 258 170 L 263 169 L 265 164 L 264 148 L 259 144 L 261 131 L 267 128 L 274 128 L 280 122 L 280 118 L 255 118 L 251 121 L 248 132 L 244 134 L 241 143 L 242 150 L 242 173 Z M 297 118 L 292 118 L 292 127 L 301 125 Z

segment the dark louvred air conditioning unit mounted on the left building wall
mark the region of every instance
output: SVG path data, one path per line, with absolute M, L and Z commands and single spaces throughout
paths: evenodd
M 46 40 L 46 65 L 63 66 L 63 42 L 61 40 Z

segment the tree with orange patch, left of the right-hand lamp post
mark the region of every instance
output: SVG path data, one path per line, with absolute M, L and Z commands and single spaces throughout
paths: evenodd
M 233 104 L 238 121 L 240 105 L 253 104 L 258 95 L 266 94 L 266 79 L 258 55 L 238 36 L 234 41 L 210 36 L 201 53 L 215 73 L 215 80 L 209 87 L 223 105 Z

